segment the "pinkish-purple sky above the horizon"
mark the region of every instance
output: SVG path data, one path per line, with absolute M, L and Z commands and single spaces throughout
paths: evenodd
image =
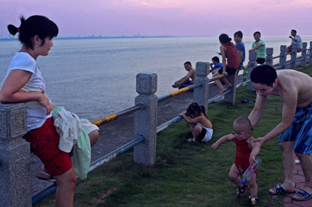
M 64 36 L 312 35 L 311 0 L 0 0 L 0 37 L 19 15 L 44 15 Z

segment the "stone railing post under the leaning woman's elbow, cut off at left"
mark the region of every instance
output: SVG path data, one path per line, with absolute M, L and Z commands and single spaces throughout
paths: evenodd
M 31 147 L 24 103 L 0 104 L 0 206 L 31 206 Z

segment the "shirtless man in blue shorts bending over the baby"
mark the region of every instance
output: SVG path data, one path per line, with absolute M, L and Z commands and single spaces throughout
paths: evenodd
M 312 198 L 312 78 L 293 70 L 275 71 L 272 66 L 261 65 L 250 73 L 250 80 L 257 92 L 254 109 L 249 115 L 252 127 L 258 123 L 268 95 L 279 96 L 284 101 L 281 123 L 266 136 L 257 138 L 261 145 L 279 136 L 283 156 L 285 181 L 269 190 L 272 195 L 293 193 L 295 154 L 300 160 L 305 182 L 293 196 L 303 201 Z M 294 154 L 295 152 L 295 154 Z

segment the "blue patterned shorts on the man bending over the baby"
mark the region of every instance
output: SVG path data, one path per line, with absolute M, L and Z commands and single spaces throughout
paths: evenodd
M 312 104 L 297 108 L 293 124 L 279 136 L 279 142 L 295 141 L 293 151 L 312 154 Z

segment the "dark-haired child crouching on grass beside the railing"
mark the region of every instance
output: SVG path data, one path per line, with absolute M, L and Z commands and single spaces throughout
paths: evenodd
M 212 137 L 212 125 L 206 115 L 206 109 L 204 106 L 198 105 L 197 102 L 192 102 L 187 111 L 179 114 L 189 124 L 189 128 L 193 134 L 193 138 L 188 138 L 188 141 L 195 142 L 207 142 Z M 190 116 L 188 118 L 187 116 Z

